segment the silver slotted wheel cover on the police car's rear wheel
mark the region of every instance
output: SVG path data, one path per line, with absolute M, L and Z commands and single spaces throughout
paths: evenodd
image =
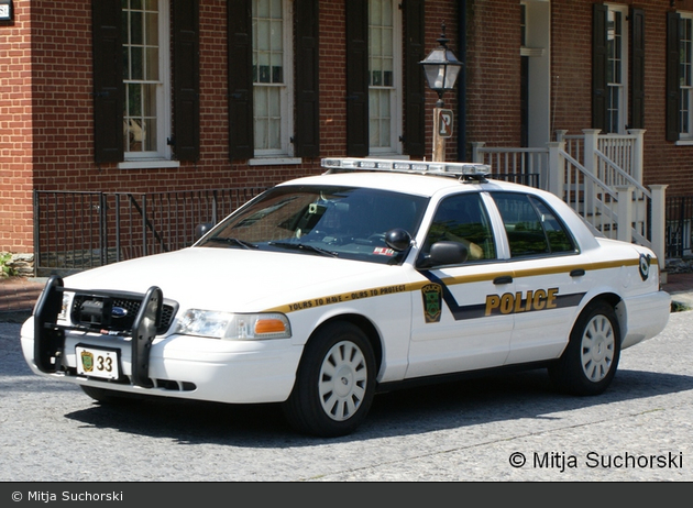
M 614 363 L 616 338 L 606 316 L 595 316 L 582 334 L 580 358 L 582 369 L 591 382 L 606 377 Z

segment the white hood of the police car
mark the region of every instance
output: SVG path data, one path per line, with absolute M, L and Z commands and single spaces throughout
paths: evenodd
M 180 308 L 243 312 L 359 288 L 392 269 L 301 253 L 189 247 L 81 272 L 64 285 L 142 294 L 157 286 Z

